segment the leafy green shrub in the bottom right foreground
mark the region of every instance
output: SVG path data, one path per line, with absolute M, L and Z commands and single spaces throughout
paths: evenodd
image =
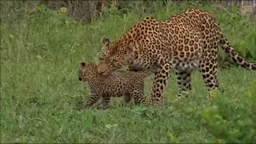
M 189 108 L 184 109 L 178 103 L 175 103 L 175 106 L 194 119 L 198 126 L 208 130 L 214 143 L 255 143 L 256 90 L 251 88 L 241 100 L 238 98 L 230 100 L 219 91 L 214 91 L 213 100 L 212 106 L 198 112 Z

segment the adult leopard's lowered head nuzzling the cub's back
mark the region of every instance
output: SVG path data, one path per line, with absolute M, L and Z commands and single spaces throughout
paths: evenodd
M 106 71 L 114 71 L 123 66 L 130 65 L 136 58 L 136 46 L 128 39 L 129 36 L 124 36 L 118 42 L 110 42 L 109 38 L 102 38 L 102 52 L 99 56 L 100 63 L 104 63 L 107 69 L 99 70 L 100 74 L 107 74 Z

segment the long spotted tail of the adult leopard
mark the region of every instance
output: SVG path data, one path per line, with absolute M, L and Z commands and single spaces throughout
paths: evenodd
M 230 46 L 230 42 L 227 40 L 223 33 L 221 33 L 220 44 L 222 49 L 226 52 L 230 59 L 232 59 L 233 62 L 236 62 L 239 66 L 242 66 L 247 70 L 256 70 L 256 63 L 248 62 L 245 58 L 242 58 L 238 52 L 236 52 L 234 48 Z

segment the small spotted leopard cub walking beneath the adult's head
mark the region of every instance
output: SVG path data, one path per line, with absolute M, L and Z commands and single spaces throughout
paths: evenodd
M 144 78 L 150 71 L 113 72 L 108 76 L 98 73 L 98 65 L 92 62 L 80 62 L 78 80 L 87 82 L 90 86 L 90 98 L 83 103 L 83 108 L 93 106 L 102 98 L 103 109 L 110 107 L 111 97 L 125 97 L 125 102 L 134 98 L 135 104 L 144 104 Z

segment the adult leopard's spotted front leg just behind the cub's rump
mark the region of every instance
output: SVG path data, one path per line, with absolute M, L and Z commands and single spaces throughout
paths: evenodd
M 166 82 L 170 76 L 171 64 L 169 62 L 162 63 L 154 74 L 154 83 L 152 86 L 150 104 L 158 105 L 162 102 L 162 93 L 166 87 Z

